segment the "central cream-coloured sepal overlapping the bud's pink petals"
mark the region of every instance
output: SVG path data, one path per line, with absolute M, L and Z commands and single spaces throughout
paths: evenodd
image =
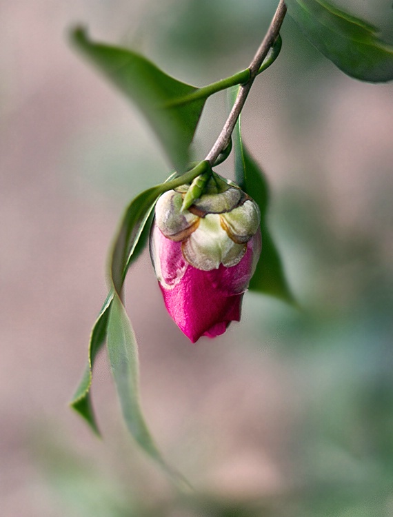
M 218 269 L 238 264 L 245 254 L 245 245 L 236 244 L 223 230 L 219 214 L 203 217 L 199 227 L 183 242 L 185 260 L 199 270 Z

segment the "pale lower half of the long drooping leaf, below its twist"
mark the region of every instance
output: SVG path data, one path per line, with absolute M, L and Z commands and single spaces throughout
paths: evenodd
M 178 485 L 188 485 L 185 479 L 170 467 L 148 429 L 139 396 L 139 356 L 134 330 L 123 303 L 114 295 L 108 322 L 108 354 L 114 383 L 121 403 L 125 423 L 139 446 L 169 474 Z

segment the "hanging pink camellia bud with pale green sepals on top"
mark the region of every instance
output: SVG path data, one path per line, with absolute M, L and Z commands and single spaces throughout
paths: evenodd
M 240 321 L 243 293 L 261 252 L 255 201 L 214 174 L 204 193 L 181 210 L 189 185 L 157 201 L 150 255 L 173 320 L 195 343 Z

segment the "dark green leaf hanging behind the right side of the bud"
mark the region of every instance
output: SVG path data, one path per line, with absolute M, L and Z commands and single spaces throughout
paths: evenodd
M 238 91 L 238 88 L 233 88 L 230 92 L 232 104 Z M 250 290 L 275 296 L 293 305 L 294 297 L 290 292 L 279 252 L 266 222 L 269 202 L 268 183 L 265 175 L 243 145 L 241 116 L 239 116 L 233 132 L 233 149 L 236 183 L 256 201 L 261 210 L 262 252 L 254 276 L 250 281 Z

